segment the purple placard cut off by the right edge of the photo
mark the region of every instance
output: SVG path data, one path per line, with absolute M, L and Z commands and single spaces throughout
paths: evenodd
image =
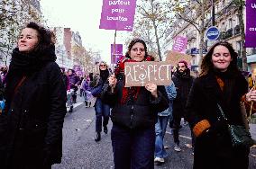
M 246 1 L 245 47 L 256 47 L 256 0 Z

